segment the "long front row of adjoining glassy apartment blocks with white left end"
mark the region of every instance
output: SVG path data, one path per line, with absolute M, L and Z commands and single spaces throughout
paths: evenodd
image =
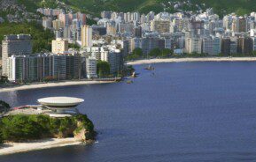
M 79 55 L 12 55 L 8 58 L 10 81 L 43 81 L 77 79 L 81 76 Z

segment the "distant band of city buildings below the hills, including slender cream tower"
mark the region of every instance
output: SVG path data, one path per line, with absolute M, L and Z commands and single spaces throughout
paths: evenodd
M 123 55 L 142 48 L 148 55 L 154 48 L 169 48 L 175 54 L 251 55 L 256 50 L 256 13 L 219 18 L 213 9 L 199 14 L 183 12 L 103 11 L 97 25 L 87 26 L 86 15 L 40 9 L 57 38 L 74 42 L 81 48 L 119 44 Z M 56 18 L 56 19 L 52 19 Z M 43 21 L 46 22 L 46 21 Z M 112 43 L 118 40 L 118 43 Z

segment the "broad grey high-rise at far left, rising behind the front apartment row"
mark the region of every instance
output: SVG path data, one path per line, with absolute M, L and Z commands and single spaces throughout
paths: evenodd
M 27 34 L 5 35 L 2 41 L 3 76 L 8 76 L 8 57 L 11 55 L 32 54 L 31 36 Z

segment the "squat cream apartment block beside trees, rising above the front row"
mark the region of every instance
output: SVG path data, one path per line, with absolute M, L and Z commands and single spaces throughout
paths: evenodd
M 68 40 L 57 38 L 51 41 L 51 52 L 53 54 L 63 54 L 68 50 Z

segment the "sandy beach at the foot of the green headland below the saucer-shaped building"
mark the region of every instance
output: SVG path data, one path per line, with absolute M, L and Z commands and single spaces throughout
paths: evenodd
M 67 145 L 82 144 L 75 138 L 51 138 L 46 140 L 37 140 L 31 143 L 6 143 L 0 145 L 0 156 L 26 151 L 38 151 L 56 147 L 64 147 Z

